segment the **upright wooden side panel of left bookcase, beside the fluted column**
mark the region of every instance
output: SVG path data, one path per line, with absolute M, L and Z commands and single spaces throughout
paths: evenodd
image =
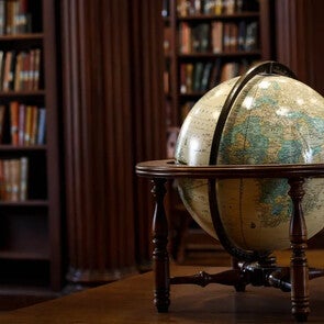
M 60 163 L 58 127 L 58 102 L 60 102 L 57 86 L 57 48 L 56 46 L 56 12 L 55 1 L 43 2 L 44 24 L 44 57 L 45 88 L 46 88 L 46 142 L 47 157 L 47 190 L 48 190 L 48 228 L 49 228 L 49 254 L 51 254 L 51 287 L 60 290 L 63 287 L 63 234 L 62 234 L 62 197 L 60 197 Z M 40 174 L 37 174 L 40 176 Z

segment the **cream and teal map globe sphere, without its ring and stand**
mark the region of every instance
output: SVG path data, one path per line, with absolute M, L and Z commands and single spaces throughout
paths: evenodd
M 237 78 L 206 92 L 186 118 L 175 159 L 209 165 L 212 141 L 224 102 Z M 221 136 L 219 165 L 317 164 L 324 161 L 324 99 L 306 85 L 280 75 L 257 75 L 239 92 Z M 216 238 L 208 180 L 179 179 L 180 197 L 195 222 Z M 216 181 L 219 214 L 227 237 L 244 250 L 290 247 L 292 202 L 287 179 Z M 312 237 L 323 227 L 324 179 L 304 183 L 302 201 Z

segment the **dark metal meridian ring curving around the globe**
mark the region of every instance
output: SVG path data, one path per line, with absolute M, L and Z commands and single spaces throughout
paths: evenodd
M 297 79 L 295 75 L 287 66 L 272 60 L 257 64 L 253 66 L 250 69 L 248 69 L 246 74 L 244 74 L 236 81 L 236 83 L 234 85 L 231 92 L 228 93 L 226 101 L 222 108 L 222 111 L 215 127 L 215 132 L 213 135 L 212 145 L 211 145 L 211 154 L 210 154 L 210 161 L 209 161 L 210 165 L 217 164 L 221 137 L 223 134 L 226 120 L 230 115 L 230 112 L 232 110 L 232 107 L 236 98 L 238 97 L 241 91 L 244 89 L 246 83 L 250 81 L 256 75 L 260 75 L 260 74 L 266 74 L 266 75 L 276 74 L 276 75 L 287 76 L 287 77 Z M 209 179 L 209 203 L 210 203 L 211 216 L 212 216 L 214 230 L 216 232 L 216 235 L 222 246 L 238 260 L 258 261 L 258 260 L 267 258 L 271 252 L 253 252 L 253 250 L 242 249 L 237 247 L 227 236 L 221 220 L 219 208 L 217 208 L 217 200 L 216 200 L 217 192 L 216 192 L 215 185 L 216 185 L 215 179 Z

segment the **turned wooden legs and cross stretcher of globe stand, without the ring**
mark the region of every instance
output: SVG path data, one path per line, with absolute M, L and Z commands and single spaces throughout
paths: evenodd
M 298 322 L 305 322 L 310 313 L 309 280 L 323 277 L 323 269 L 309 269 L 306 249 L 306 225 L 301 202 L 304 195 L 303 178 L 289 179 L 293 204 L 290 223 L 291 262 L 290 267 L 278 267 L 276 258 L 269 257 L 258 262 L 238 262 L 234 260 L 233 268 L 220 273 L 210 275 L 201 271 L 193 276 L 170 278 L 168 244 L 168 221 L 166 217 L 164 198 L 166 179 L 154 178 L 153 194 L 155 210 L 153 219 L 153 266 L 155 276 L 154 303 L 158 312 L 168 312 L 170 305 L 170 284 L 209 283 L 233 286 L 237 291 L 244 291 L 247 284 L 275 287 L 282 291 L 291 291 L 291 312 Z

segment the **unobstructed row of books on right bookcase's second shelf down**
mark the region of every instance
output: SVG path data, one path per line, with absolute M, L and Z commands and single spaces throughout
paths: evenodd
M 250 52 L 258 49 L 259 26 L 257 21 L 179 24 L 179 52 L 193 53 L 222 53 L 222 52 Z M 167 35 L 167 34 L 165 34 Z

